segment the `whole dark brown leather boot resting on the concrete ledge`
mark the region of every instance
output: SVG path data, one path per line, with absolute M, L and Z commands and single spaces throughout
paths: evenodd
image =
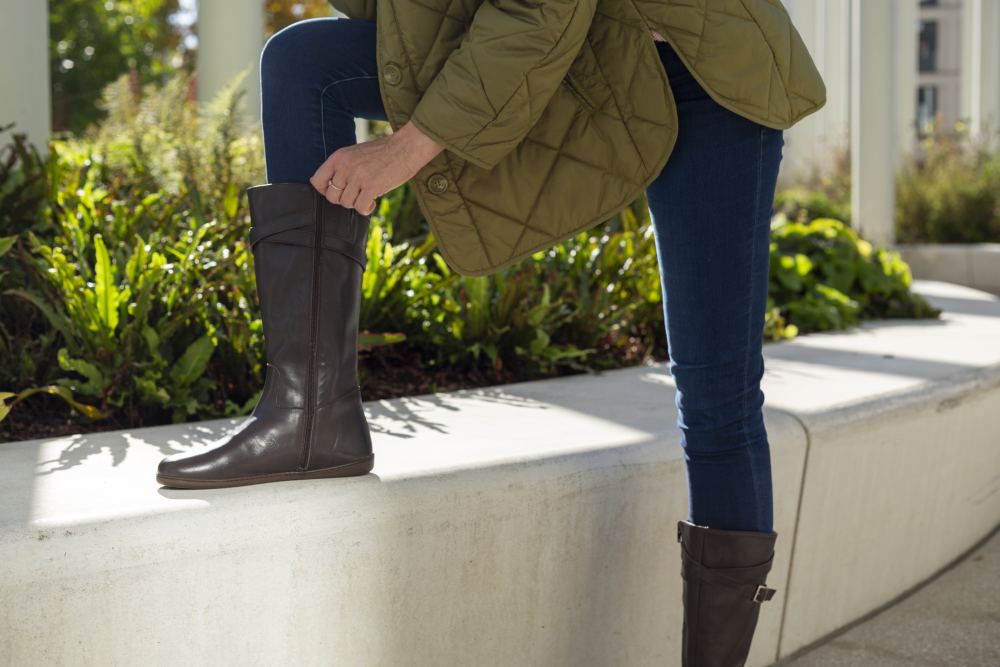
M 156 480 L 208 489 L 363 475 L 375 460 L 357 377 L 368 216 L 308 183 L 255 185 L 247 196 L 264 388 L 237 431 L 166 457 Z

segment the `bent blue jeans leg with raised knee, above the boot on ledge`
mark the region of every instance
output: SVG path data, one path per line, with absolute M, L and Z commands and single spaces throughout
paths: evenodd
M 267 181 L 307 183 L 357 142 L 355 118 L 386 120 L 375 22 L 314 18 L 274 33 L 260 55 L 260 99 Z

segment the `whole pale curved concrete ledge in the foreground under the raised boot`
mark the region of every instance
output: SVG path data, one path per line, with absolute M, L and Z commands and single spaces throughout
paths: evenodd
M 748 665 L 1000 519 L 1000 302 L 765 347 L 778 553 Z M 0 445 L 0 664 L 664 665 L 686 516 L 663 364 L 370 402 L 374 473 L 161 489 L 218 420 Z

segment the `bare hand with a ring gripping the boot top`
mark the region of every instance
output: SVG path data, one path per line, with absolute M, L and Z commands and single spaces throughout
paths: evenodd
M 330 203 L 370 215 L 377 197 L 413 178 L 442 150 L 444 146 L 407 122 L 388 136 L 338 148 L 309 182 Z

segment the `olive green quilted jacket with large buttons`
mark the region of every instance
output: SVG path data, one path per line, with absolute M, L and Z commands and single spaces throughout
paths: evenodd
M 377 22 L 390 126 L 445 147 L 414 177 L 445 261 L 479 276 L 641 195 L 677 139 L 651 31 L 724 107 L 786 129 L 826 87 L 779 0 L 329 0 Z

